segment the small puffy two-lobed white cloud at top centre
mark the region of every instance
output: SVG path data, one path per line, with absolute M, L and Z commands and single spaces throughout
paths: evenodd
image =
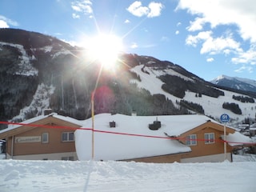
M 163 7 L 160 2 L 150 2 L 149 6 L 142 6 L 142 2 L 136 1 L 130 4 L 127 10 L 137 17 L 146 15 L 148 18 L 154 18 L 161 14 Z

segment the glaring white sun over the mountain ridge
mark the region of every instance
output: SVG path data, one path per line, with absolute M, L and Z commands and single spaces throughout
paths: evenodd
M 113 34 L 99 34 L 90 38 L 87 49 L 93 61 L 101 62 L 106 70 L 114 70 L 118 54 L 123 51 L 122 38 Z

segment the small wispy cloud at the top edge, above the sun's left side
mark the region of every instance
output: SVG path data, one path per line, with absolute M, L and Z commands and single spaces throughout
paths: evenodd
M 92 9 L 92 2 L 89 0 L 79 0 L 75 2 L 71 2 L 71 7 L 74 11 L 82 14 L 93 14 L 93 9 Z M 72 14 L 73 18 L 80 18 L 80 16 L 76 14 Z

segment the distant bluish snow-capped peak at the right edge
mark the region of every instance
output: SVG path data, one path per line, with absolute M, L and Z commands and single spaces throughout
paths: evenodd
M 218 76 L 210 81 L 218 86 L 229 87 L 235 90 L 245 90 L 256 93 L 256 81 L 248 78 L 232 78 L 226 75 Z

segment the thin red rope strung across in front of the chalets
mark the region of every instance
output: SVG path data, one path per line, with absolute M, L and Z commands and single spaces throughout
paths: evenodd
M 30 123 L 22 123 L 22 122 L 0 122 L 0 124 L 8 124 L 8 125 L 18 125 L 18 126 L 34 126 L 34 127 L 42 127 L 48 129 L 69 129 L 69 130 L 91 130 L 94 132 L 102 133 L 102 134 L 119 134 L 119 135 L 127 135 L 132 137 L 143 137 L 143 138 L 162 138 L 162 139 L 171 139 L 171 140 L 178 140 L 178 141 L 197 141 L 197 142 L 226 142 L 226 143 L 235 143 L 241 145 L 256 145 L 256 142 L 229 142 L 224 141 L 223 139 L 203 139 L 203 138 L 178 138 L 175 136 L 166 137 L 163 136 L 153 136 L 153 135 L 146 135 L 146 134 L 129 134 L 129 133 L 119 133 L 114 131 L 107 131 L 107 130 L 95 130 L 92 128 L 85 128 L 85 127 L 71 127 L 71 126 L 50 126 L 50 125 L 38 125 L 38 124 L 30 124 Z

